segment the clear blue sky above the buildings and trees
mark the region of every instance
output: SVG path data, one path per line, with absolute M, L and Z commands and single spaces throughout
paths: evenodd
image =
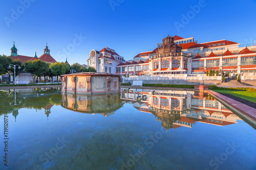
M 48 41 L 51 56 L 60 62 L 67 57 L 70 64 L 87 64 L 90 51 L 105 46 L 130 60 L 154 50 L 158 41 L 175 32 L 183 38 L 193 33 L 199 43 L 226 39 L 247 44 L 256 38 L 256 1 L 252 0 L 12 0 L 0 4 L 0 54 L 10 55 L 15 41 L 19 55 L 37 52 L 39 57 Z

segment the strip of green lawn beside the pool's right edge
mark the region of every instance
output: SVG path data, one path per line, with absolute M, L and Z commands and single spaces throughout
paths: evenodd
M 236 90 L 214 90 L 218 93 L 227 93 L 235 95 L 239 98 L 245 99 L 247 101 L 256 103 L 256 93 L 251 91 L 236 91 Z

